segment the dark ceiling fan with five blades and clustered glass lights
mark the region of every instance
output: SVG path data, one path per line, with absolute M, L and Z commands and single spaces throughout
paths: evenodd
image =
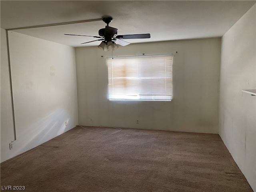
M 98 48 L 104 51 L 108 50 L 116 50 L 118 45 L 126 46 L 130 44 L 129 42 L 124 41 L 123 39 L 142 39 L 142 38 L 150 38 L 150 34 L 131 34 L 131 35 L 117 35 L 117 28 L 110 27 L 108 24 L 112 22 L 113 18 L 107 17 L 102 19 L 107 25 L 105 28 L 99 30 L 99 36 L 89 36 L 89 35 L 74 35 L 74 34 L 64 34 L 64 35 L 73 35 L 73 36 L 86 36 L 86 37 L 94 37 L 98 38 L 97 40 L 84 42 L 90 43 L 95 41 L 102 41 Z

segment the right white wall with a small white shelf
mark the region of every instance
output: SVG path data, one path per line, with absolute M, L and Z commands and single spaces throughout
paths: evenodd
M 256 191 L 256 5 L 222 37 L 219 134 Z

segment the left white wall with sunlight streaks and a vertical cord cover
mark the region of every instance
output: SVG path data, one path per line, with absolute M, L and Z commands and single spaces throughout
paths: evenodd
M 75 49 L 9 32 L 17 140 L 5 30 L 1 29 L 1 162 L 78 124 Z M 68 126 L 65 126 L 68 122 Z

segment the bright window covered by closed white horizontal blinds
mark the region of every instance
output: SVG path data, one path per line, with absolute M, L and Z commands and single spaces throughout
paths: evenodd
M 108 58 L 109 100 L 171 100 L 172 55 Z

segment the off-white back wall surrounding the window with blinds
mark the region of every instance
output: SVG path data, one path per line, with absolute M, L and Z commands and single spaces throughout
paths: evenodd
M 113 54 L 176 51 L 171 102 L 109 101 L 106 57 L 112 52 L 97 47 L 76 48 L 79 124 L 218 133 L 220 38 L 130 44 L 120 46 Z

